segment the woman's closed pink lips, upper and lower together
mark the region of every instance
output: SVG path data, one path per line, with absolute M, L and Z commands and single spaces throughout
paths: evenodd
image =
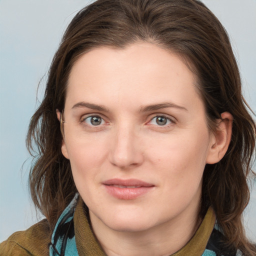
M 131 200 L 149 192 L 154 185 L 138 179 L 108 179 L 102 183 L 106 191 L 113 197 Z

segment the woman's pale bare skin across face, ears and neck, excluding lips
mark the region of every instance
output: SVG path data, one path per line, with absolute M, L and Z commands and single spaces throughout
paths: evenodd
M 169 255 L 198 227 L 204 166 L 224 155 L 231 115 L 222 113 L 213 135 L 196 86 L 177 55 L 152 43 L 94 48 L 74 63 L 62 153 L 107 255 Z M 101 123 L 91 124 L 90 116 Z M 135 178 L 152 188 L 120 199 L 103 184 L 112 178 Z

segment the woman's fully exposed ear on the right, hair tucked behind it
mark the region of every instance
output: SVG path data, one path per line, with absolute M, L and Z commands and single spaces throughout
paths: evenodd
M 232 135 L 233 116 L 229 112 L 220 114 L 221 119 L 218 119 L 217 129 L 212 134 L 210 148 L 206 157 L 206 163 L 216 163 L 225 155 Z

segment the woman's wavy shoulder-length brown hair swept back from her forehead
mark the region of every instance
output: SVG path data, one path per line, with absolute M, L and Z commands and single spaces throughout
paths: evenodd
M 255 124 L 241 95 L 239 71 L 226 31 L 198 0 L 97 0 L 75 15 L 53 57 L 44 98 L 27 133 L 28 149 L 38 153 L 29 177 L 35 205 L 53 228 L 77 192 L 70 163 L 61 153 L 56 118 L 56 109 L 64 107 L 72 64 L 93 47 L 123 48 L 136 41 L 156 43 L 191 63 L 211 130 L 220 113 L 233 115 L 225 156 L 205 166 L 200 215 L 212 205 L 225 246 L 252 255 L 256 249 L 245 237 L 241 214 L 249 200 L 246 179 L 255 148 Z

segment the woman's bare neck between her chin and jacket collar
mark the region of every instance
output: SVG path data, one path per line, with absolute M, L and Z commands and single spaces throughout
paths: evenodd
M 193 214 L 185 210 L 171 220 L 139 231 L 115 230 L 92 212 L 89 214 L 94 234 L 108 256 L 168 256 L 190 240 L 201 222 L 197 217 L 198 207 Z

